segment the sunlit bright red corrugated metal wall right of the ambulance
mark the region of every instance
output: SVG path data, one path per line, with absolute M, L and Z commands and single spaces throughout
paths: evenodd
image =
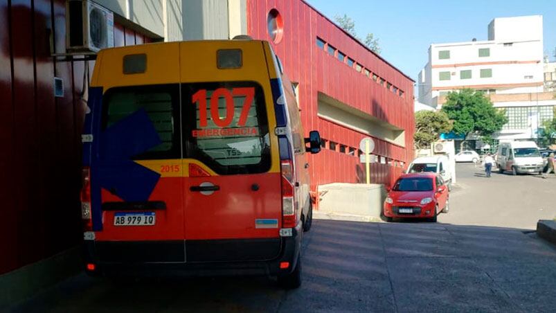
M 355 148 L 359 147 L 361 138 L 367 136 L 319 118 L 319 92 L 404 129 L 404 147 L 374 138 L 376 148 L 373 153 L 391 160 L 391 164 L 374 163 L 371 166 L 371 180 L 392 184 L 402 172 L 402 168 L 396 167 L 395 163 L 408 163 L 413 159 L 413 81 L 301 0 L 248 1 L 249 35 L 271 42 L 267 16 L 273 8 L 280 12 L 284 21 L 283 39 L 273 44 L 273 48 L 289 78 L 299 82 L 299 102 L 305 131 L 318 129 L 328 141 Z M 404 91 L 403 97 L 329 55 L 316 45 L 316 37 Z M 310 161 L 313 185 L 356 183 L 365 179 L 365 167 L 359 162 L 359 157 L 339 152 L 338 148 L 337 151 L 324 149 L 320 154 L 311 156 Z

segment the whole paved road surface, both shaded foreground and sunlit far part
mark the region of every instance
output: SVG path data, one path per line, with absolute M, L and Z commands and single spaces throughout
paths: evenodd
M 266 278 L 116 284 L 82 274 L 13 311 L 555 312 L 556 247 L 524 229 L 530 215 L 553 214 L 539 208 L 548 208 L 556 179 L 474 171 L 458 166 L 461 187 L 438 224 L 316 220 L 300 289 Z

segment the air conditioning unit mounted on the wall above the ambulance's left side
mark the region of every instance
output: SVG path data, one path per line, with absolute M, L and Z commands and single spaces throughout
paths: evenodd
M 114 46 L 114 13 L 90 0 L 66 1 L 66 50 L 98 52 Z

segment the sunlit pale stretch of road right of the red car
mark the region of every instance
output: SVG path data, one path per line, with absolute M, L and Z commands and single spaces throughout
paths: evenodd
M 494 172 L 487 178 L 470 163 L 458 163 L 456 172 L 459 188 L 450 195 L 450 213 L 438 219 L 442 223 L 536 229 L 538 220 L 556 217 L 556 175 Z

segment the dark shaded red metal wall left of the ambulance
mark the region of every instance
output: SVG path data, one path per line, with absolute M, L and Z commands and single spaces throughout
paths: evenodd
M 94 62 L 51 57 L 51 35 L 65 52 L 65 11 L 64 0 L 0 0 L 0 274 L 80 241 L 83 80 Z M 118 25 L 114 35 L 116 46 L 149 40 Z

